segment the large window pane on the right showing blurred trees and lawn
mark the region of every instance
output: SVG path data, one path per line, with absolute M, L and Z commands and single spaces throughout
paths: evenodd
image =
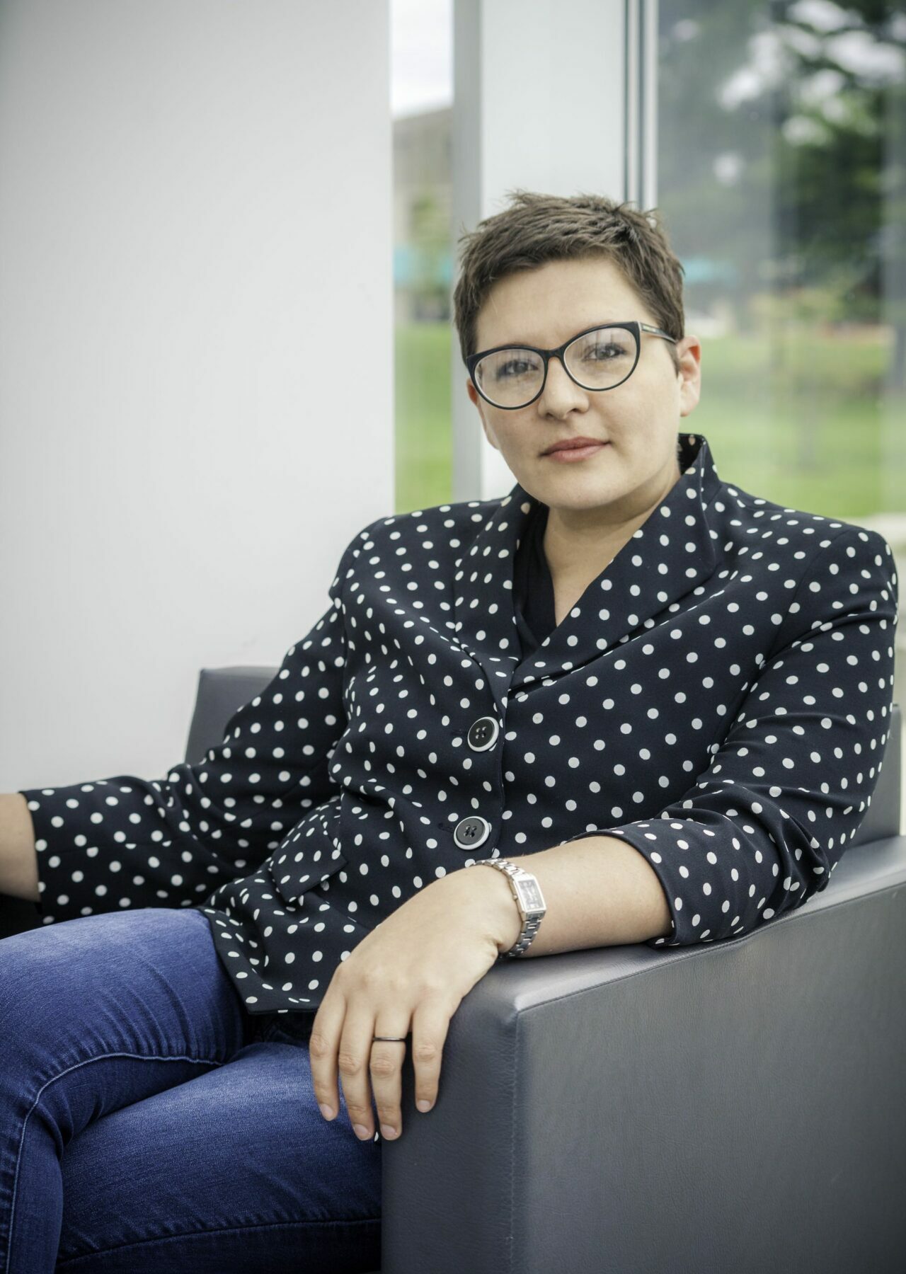
M 875 527 L 902 577 L 906 15 L 660 0 L 659 25 L 658 205 L 702 339 L 688 423 L 724 480 Z

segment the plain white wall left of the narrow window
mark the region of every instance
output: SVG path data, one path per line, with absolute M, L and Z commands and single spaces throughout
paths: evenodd
M 279 664 L 392 512 L 389 43 L 0 8 L 0 791 L 164 775 L 199 668 Z

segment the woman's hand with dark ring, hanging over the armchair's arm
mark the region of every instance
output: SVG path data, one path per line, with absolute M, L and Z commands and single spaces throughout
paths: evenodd
M 381 1136 L 400 1135 L 406 1041 L 372 1042 L 372 1036 L 396 1040 L 410 1029 L 415 1103 L 431 1110 L 450 1018 L 516 940 L 512 935 L 503 945 L 514 927 L 517 935 L 519 911 L 502 873 L 460 869 L 433 880 L 362 939 L 336 967 L 311 1027 L 311 1074 L 325 1119 L 339 1111 L 339 1068 L 350 1122 L 358 1136 L 373 1139 L 371 1073 Z

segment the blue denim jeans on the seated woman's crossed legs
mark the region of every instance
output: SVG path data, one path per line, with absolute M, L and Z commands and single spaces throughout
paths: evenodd
M 279 1020 L 194 908 L 0 941 L 0 1274 L 377 1270 L 381 1143 Z

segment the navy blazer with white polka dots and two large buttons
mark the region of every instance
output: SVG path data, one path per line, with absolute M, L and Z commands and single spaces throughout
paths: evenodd
M 205 759 L 23 790 L 45 924 L 198 907 L 250 1013 L 313 1013 L 400 903 L 475 857 L 619 836 L 672 934 L 738 938 L 823 889 L 891 725 L 897 576 L 875 531 L 682 476 L 522 655 L 535 507 L 382 517 Z

